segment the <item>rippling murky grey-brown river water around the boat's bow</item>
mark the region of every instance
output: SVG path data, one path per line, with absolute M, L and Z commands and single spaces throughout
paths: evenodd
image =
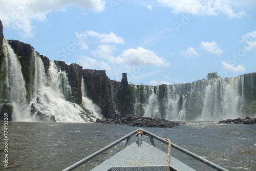
M 4 144 L 4 122 L 1 122 L 1 169 L 62 170 L 98 149 L 138 129 L 119 124 L 9 122 L 8 152 Z M 256 170 L 256 125 L 186 122 L 171 129 L 145 128 L 162 138 L 196 153 L 228 170 Z M 133 136 L 132 140 L 137 137 Z M 146 136 L 142 140 L 148 141 Z M 131 141 L 133 142 L 133 141 Z M 155 140 L 167 153 L 167 146 Z M 90 170 L 120 151 L 125 141 L 104 152 L 77 170 Z M 8 167 L 4 157 L 8 155 Z M 214 170 L 176 149 L 171 155 L 196 170 Z

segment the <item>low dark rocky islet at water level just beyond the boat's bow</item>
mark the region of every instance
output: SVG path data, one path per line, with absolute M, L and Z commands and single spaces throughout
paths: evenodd
M 173 122 L 160 118 L 141 117 L 136 115 L 127 115 L 122 118 L 115 119 L 97 119 L 96 123 L 109 123 L 109 124 L 126 124 L 129 126 L 139 127 L 176 127 L 179 122 Z

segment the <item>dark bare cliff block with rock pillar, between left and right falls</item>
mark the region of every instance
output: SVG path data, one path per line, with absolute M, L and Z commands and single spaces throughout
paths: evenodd
M 126 73 L 122 80 L 114 81 L 106 76 L 105 71 L 82 71 L 87 96 L 101 108 L 106 119 L 116 119 L 133 114 L 133 104 Z

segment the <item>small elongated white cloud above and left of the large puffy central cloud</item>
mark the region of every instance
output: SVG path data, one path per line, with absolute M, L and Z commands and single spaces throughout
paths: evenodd
M 115 33 L 110 32 L 109 34 L 103 33 L 100 34 L 95 31 L 88 31 L 88 35 L 99 38 L 100 42 L 105 43 L 115 43 L 115 44 L 124 44 L 124 39 L 122 37 L 118 37 Z

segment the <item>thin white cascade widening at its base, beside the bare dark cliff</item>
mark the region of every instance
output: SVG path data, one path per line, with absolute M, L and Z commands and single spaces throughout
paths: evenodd
M 86 84 L 84 83 L 84 80 L 82 79 L 81 90 L 82 90 L 83 108 L 85 108 L 86 111 L 90 114 L 93 121 L 96 121 L 97 118 L 102 119 L 102 116 L 100 114 L 101 110 L 100 110 L 99 106 L 94 104 L 93 101 L 87 97 L 85 85 Z

